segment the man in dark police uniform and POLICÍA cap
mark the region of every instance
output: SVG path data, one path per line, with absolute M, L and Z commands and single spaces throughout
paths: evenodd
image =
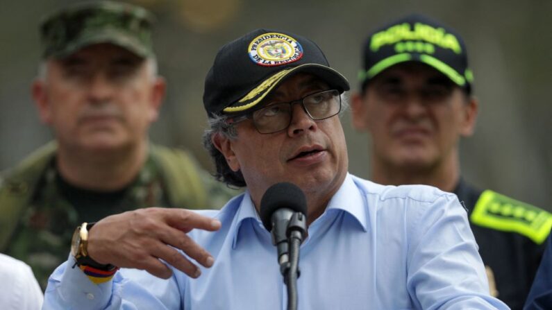
M 371 180 L 455 193 L 469 212 L 491 292 L 521 309 L 552 216 L 460 177 L 458 142 L 473 133 L 478 112 L 462 38 L 410 15 L 371 33 L 363 62 L 351 107 L 355 128 L 371 134 Z

